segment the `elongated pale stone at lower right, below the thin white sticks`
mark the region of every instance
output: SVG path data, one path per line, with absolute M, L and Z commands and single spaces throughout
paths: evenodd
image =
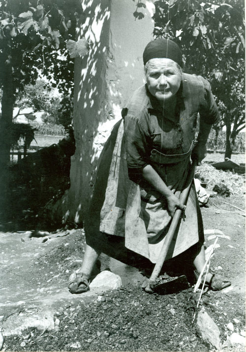
M 206 343 L 219 350 L 221 343 L 219 328 L 204 309 L 197 315 L 197 330 Z

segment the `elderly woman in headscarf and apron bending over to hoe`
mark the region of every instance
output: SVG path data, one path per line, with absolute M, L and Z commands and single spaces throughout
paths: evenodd
M 196 276 L 205 264 L 203 225 L 194 185 L 186 206 L 179 196 L 190 159 L 200 164 L 206 156 L 212 124 L 219 118 L 215 99 L 207 80 L 182 72 L 182 53 L 172 40 L 151 41 L 143 61 L 147 83 L 133 93 L 100 156 L 85 224 L 85 256 L 82 267 L 70 276 L 71 293 L 89 290 L 101 251 L 123 262 L 129 253 L 137 253 L 147 265 L 156 263 L 176 209 L 184 210 L 184 216 L 167 259 L 195 248 Z M 230 282 L 209 273 L 206 284 L 220 290 Z

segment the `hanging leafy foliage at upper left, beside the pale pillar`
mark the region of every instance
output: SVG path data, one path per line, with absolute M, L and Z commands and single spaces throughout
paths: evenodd
M 34 83 L 40 70 L 66 93 L 73 87 L 73 60 L 65 43 L 75 39 L 79 0 L 4 0 L 0 3 L 0 61 L 6 40 L 11 42 L 14 94 Z M 10 27 L 9 27 L 10 26 Z M 7 28 L 11 31 L 7 31 Z M 58 50 L 59 49 L 59 50 Z M 0 69 L 0 84 L 4 65 Z M 61 71 L 59 72 L 59 69 Z

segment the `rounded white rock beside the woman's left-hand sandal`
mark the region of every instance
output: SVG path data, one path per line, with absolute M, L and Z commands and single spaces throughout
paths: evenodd
M 96 275 L 90 284 L 91 290 L 100 289 L 102 291 L 116 290 L 122 286 L 122 279 L 119 275 L 107 270 Z

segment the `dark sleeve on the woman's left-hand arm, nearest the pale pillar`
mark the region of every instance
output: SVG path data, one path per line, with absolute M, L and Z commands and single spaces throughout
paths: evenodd
M 137 118 L 127 115 L 123 120 L 128 175 L 130 180 L 138 183 L 142 178 L 143 168 L 149 163 L 150 136 L 147 128 Z

